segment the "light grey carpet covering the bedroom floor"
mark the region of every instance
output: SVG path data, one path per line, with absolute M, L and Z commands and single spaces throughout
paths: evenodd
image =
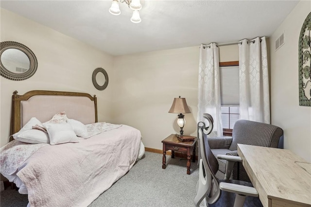
M 199 178 L 197 162 L 167 157 L 162 169 L 162 155 L 146 152 L 133 168 L 89 207 L 194 207 L 195 185 Z M 185 155 L 186 157 L 186 155 Z M 25 207 L 27 196 L 15 190 L 1 192 L 1 207 Z

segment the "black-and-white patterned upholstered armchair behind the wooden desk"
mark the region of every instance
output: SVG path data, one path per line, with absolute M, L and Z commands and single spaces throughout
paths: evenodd
M 212 153 L 216 155 L 238 155 L 238 144 L 248 144 L 262 147 L 282 148 L 283 130 L 275 125 L 238 120 L 236 121 L 232 137 L 208 138 L 208 144 Z M 259 155 L 260 156 L 260 155 Z M 200 156 L 199 156 L 200 158 Z M 225 171 L 228 165 L 226 160 L 218 159 L 219 170 L 216 173 L 218 179 L 225 179 Z M 242 163 L 235 163 L 231 179 L 250 182 Z

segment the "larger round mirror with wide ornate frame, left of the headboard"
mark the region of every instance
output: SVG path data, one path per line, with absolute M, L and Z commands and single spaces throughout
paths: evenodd
M 18 42 L 0 43 L 0 75 L 15 81 L 25 80 L 35 74 L 38 63 L 34 52 Z

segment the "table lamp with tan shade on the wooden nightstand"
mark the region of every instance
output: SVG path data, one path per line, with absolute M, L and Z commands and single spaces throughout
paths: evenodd
M 171 109 L 169 110 L 169 113 L 177 113 L 178 114 L 178 119 L 177 119 L 177 124 L 180 127 L 180 135 L 184 134 L 183 128 L 185 126 L 185 115 L 183 113 L 191 113 L 190 109 L 187 105 L 186 99 L 185 98 L 174 98 L 173 104 Z

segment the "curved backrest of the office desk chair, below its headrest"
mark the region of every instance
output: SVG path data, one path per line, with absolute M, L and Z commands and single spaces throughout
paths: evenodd
M 205 179 L 209 186 L 209 192 L 206 196 L 206 201 L 209 204 L 215 203 L 221 194 L 221 190 L 219 189 L 219 183 L 215 176 L 218 171 L 219 165 L 216 157 L 213 155 L 212 151 L 209 148 L 207 135 L 204 133 L 206 129 L 205 123 L 200 121 L 198 122 L 198 139 L 200 139 L 200 148 L 202 159 L 200 162 L 203 162 Z M 200 172 L 201 173 L 201 172 Z M 202 175 L 201 175 L 202 176 Z

